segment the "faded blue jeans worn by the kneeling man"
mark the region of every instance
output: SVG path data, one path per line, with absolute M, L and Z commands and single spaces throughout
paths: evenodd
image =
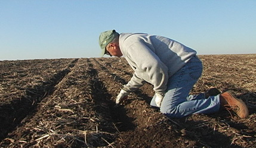
M 160 111 L 170 118 L 181 118 L 191 114 L 211 114 L 219 111 L 219 95 L 210 96 L 206 99 L 203 93 L 189 95 L 201 74 L 202 62 L 197 56 L 194 56 L 183 68 L 169 78 Z M 152 106 L 156 106 L 155 97 L 150 103 Z

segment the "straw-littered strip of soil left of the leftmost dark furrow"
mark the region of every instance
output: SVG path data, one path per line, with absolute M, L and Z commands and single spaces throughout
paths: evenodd
M 44 86 L 77 59 L 0 61 L 0 103 L 7 104 Z M 29 95 L 27 95 L 29 96 Z

